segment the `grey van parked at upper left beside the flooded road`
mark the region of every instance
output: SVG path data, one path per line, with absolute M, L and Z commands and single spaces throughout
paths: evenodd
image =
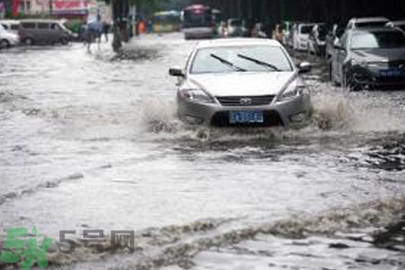
M 74 38 L 71 31 L 56 20 L 23 20 L 20 24 L 19 34 L 25 45 L 53 43 L 66 45 Z

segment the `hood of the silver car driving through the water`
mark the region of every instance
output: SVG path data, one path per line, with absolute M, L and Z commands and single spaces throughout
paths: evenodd
M 189 76 L 213 96 L 278 94 L 297 74 L 288 72 L 232 72 Z

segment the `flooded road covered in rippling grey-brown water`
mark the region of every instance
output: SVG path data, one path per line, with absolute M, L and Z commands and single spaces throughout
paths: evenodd
M 405 269 L 404 92 L 347 93 L 319 60 L 307 128 L 191 129 L 167 69 L 194 44 L 0 52 L 1 246 L 36 226 L 55 269 Z M 134 230 L 135 252 L 91 254 L 84 229 Z

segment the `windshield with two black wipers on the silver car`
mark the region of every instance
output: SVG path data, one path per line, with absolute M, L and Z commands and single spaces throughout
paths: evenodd
M 244 46 L 199 49 L 192 74 L 224 72 L 293 71 L 283 49 L 273 46 Z

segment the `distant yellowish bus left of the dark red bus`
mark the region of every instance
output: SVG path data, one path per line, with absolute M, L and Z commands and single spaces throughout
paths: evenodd
M 164 11 L 153 14 L 152 31 L 170 32 L 179 31 L 181 25 L 180 12 Z

